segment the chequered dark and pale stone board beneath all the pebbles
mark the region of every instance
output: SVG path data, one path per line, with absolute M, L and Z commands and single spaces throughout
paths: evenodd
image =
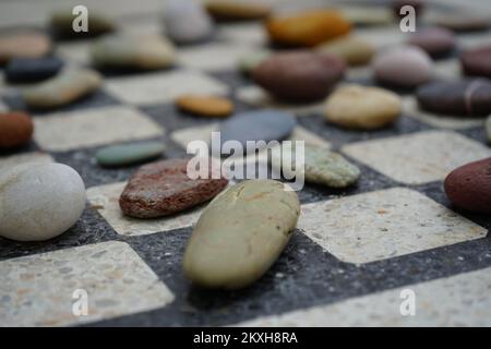
M 468 3 L 489 11 L 486 2 Z M 161 1 L 79 3 L 111 13 L 122 31 L 161 31 Z M 432 8 L 455 11 L 453 4 L 434 1 Z M 0 25 L 43 28 L 58 5 L 2 1 Z M 405 40 L 397 26 L 355 32 L 380 46 Z M 491 33 L 458 40 L 472 47 L 491 41 Z M 88 65 L 88 43 L 57 41 L 56 56 Z M 275 103 L 237 71 L 240 57 L 266 47 L 258 22 L 219 24 L 211 40 L 178 47 L 170 69 L 105 72 L 103 87 L 88 98 L 32 111 L 33 142 L 2 152 L 0 171 L 22 163 L 67 164 L 83 178 L 88 201 L 76 225 L 52 240 L 0 238 L 0 326 L 491 325 L 491 220 L 456 209 L 442 188 L 452 169 L 491 156 L 483 120 L 421 112 L 405 93 L 394 125 L 371 132 L 336 128 L 324 121 L 322 105 Z M 455 57 L 436 67 L 445 76 L 459 74 Z M 366 69 L 350 69 L 346 80 L 375 84 Z M 298 193 L 302 213 L 286 250 L 242 290 L 196 288 L 182 273 L 203 206 L 161 219 L 124 217 L 118 198 L 137 166 L 106 169 L 94 160 L 99 148 L 130 141 L 161 141 L 166 158 L 185 155 L 185 144 L 206 137 L 219 121 L 177 110 L 172 100 L 183 93 L 228 96 L 236 111 L 290 110 L 298 117 L 291 139 L 339 151 L 361 169 L 355 186 L 307 184 Z M 17 86 L 2 81 L 0 94 L 0 110 L 26 108 Z M 87 316 L 72 314 L 76 289 L 88 293 Z M 400 315 L 405 289 L 417 294 L 416 316 Z

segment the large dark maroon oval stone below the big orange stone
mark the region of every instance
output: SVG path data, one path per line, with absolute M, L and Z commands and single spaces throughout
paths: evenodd
M 346 64 L 334 55 L 294 51 L 274 55 L 252 72 L 254 82 L 278 99 L 315 101 L 344 76 Z

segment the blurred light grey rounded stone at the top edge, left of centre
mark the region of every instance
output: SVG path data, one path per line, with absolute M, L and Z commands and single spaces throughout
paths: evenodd
M 213 21 L 195 0 L 168 0 L 164 8 L 167 36 L 177 44 L 192 44 L 209 37 Z

